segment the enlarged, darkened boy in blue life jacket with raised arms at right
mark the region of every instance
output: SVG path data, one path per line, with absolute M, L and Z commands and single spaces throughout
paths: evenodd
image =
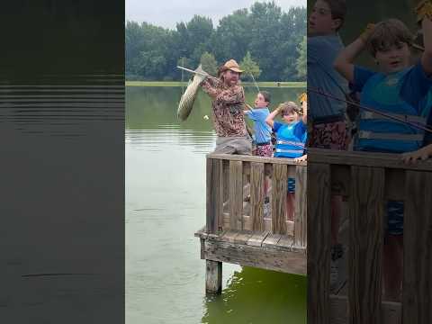
M 389 19 L 369 24 L 365 32 L 342 50 L 335 61 L 338 72 L 352 88 L 361 92 L 360 103 L 379 112 L 403 116 L 411 123 L 426 125 L 431 110 L 432 87 L 432 4 L 423 1 L 416 8 L 423 30 L 425 51 L 419 62 L 410 66 L 413 37 L 404 23 Z M 365 48 L 369 49 L 380 72 L 353 64 Z M 357 125 L 355 149 L 404 153 L 421 148 L 424 131 L 375 112 L 362 111 Z M 384 296 L 401 300 L 403 203 L 388 202 L 387 233 L 383 247 Z

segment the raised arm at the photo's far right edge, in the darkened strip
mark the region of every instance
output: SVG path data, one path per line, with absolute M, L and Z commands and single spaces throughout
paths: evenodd
M 418 23 L 423 31 L 425 51 L 421 55 L 421 65 L 428 76 L 432 75 L 432 3 L 415 0 Z

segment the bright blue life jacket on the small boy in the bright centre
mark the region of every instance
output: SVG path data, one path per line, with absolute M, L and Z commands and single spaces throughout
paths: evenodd
M 275 122 L 275 157 L 302 157 L 307 139 L 306 126 L 302 121 L 291 124 Z

